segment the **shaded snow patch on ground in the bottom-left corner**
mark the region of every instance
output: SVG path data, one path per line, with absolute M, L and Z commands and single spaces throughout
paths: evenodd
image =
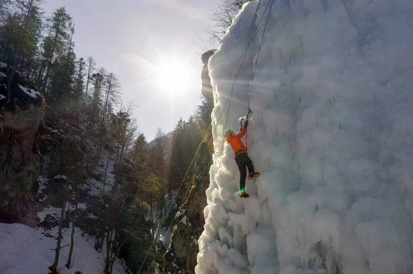
M 70 243 L 70 233 L 65 233 L 62 246 Z M 93 247 L 94 241 L 85 240 L 81 231 L 76 229 L 75 247 L 72 257 L 73 267 L 67 269 L 67 256 L 70 247 L 61 250 L 59 268 L 61 274 L 73 274 L 82 271 L 87 274 L 103 273 L 105 267 L 103 253 L 98 253 Z M 47 238 L 41 231 L 21 224 L 0 223 L 0 269 L 10 266 L 7 274 L 44 274 L 47 267 L 54 262 L 56 240 Z M 124 274 L 125 270 L 120 262 L 114 265 L 114 274 Z

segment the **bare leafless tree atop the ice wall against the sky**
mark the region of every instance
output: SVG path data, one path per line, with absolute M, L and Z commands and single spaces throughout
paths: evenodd
M 207 33 L 212 42 L 220 42 L 226 30 L 232 25 L 233 19 L 242 9 L 242 5 L 253 0 L 222 0 L 211 14 L 214 25 Z

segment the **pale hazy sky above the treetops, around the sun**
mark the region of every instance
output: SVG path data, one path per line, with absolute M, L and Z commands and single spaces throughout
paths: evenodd
M 123 104 L 134 103 L 139 131 L 151 140 L 158 128 L 173 130 L 200 105 L 204 51 L 198 35 L 209 49 L 216 47 L 204 30 L 213 25 L 218 1 L 44 0 L 43 8 L 52 14 L 65 6 L 76 24 L 76 55 L 93 56 L 96 67 L 116 74 Z

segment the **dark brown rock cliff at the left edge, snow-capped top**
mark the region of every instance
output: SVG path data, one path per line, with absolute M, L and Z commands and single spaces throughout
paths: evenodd
M 7 65 L 0 62 L 0 222 L 33 226 L 35 213 L 30 207 L 41 159 L 36 136 L 45 102 L 19 72 L 10 84 L 8 100 L 6 73 Z

